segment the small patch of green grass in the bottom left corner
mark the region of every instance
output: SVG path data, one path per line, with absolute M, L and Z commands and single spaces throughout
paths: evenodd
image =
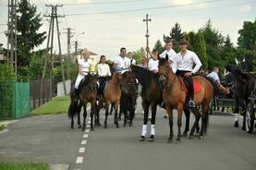
M 2 170 L 50 170 L 49 164 L 45 163 L 0 163 Z

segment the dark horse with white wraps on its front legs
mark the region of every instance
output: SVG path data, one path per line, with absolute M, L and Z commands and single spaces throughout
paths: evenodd
M 155 115 L 156 115 L 156 107 L 157 104 L 162 103 L 162 89 L 159 83 L 159 76 L 152 71 L 145 69 L 143 67 L 131 66 L 131 72 L 135 75 L 135 77 L 139 80 L 142 90 L 141 90 L 141 98 L 142 98 L 142 107 L 144 110 L 143 117 L 143 126 L 142 132 L 140 136 L 140 141 L 145 140 L 145 136 L 147 134 L 147 123 L 148 123 L 148 115 L 149 115 L 149 107 L 152 108 L 152 118 L 151 118 L 151 136 L 150 141 L 154 140 L 155 136 Z

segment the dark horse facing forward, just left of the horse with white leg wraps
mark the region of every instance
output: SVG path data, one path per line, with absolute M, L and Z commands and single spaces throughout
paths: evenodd
M 129 119 L 129 126 L 132 125 L 132 120 L 135 115 L 135 105 L 138 98 L 138 83 L 136 77 L 131 71 L 126 71 L 122 74 L 123 79 L 121 83 L 121 99 L 120 99 L 120 113 L 124 113 L 124 127 L 127 125 Z

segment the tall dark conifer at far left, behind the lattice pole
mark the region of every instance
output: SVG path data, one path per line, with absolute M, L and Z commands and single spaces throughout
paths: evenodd
M 18 44 L 18 67 L 29 66 L 30 51 L 43 43 L 45 31 L 38 32 L 43 25 L 40 14 L 36 14 L 37 8 L 30 4 L 29 0 L 20 0 L 18 3 L 17 17 L 17 44 Z

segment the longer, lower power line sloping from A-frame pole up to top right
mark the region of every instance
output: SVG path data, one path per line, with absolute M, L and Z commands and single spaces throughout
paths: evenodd
M 148 7 L 140 9 L 128 9 L 128 10 L 119 10 L 119 11 L 105 11 L 105 12 L 94 12 L 94 13 L 80 13 L 80 14 L 67 14 L 66 16 L 85 16 L 85 15 L 96 15 L 96 14 L 116 14 L 116 13 L 127 13 L 127 12 L 136 12 L 136 11 L 145 11 L 145 10 L 155 10 L 155 9 L 164 9 L 164 8 L 173 8 L 173 7 L 183 7 L 183 6 L 197 6 L 202 4 L 212 4 L 216 2 L 221 2 L 226 0 L 209 0 L 198 3 L 191 3 L 186 5 L 175 5 L 175 6 L 159 6 L 159 7 Z

